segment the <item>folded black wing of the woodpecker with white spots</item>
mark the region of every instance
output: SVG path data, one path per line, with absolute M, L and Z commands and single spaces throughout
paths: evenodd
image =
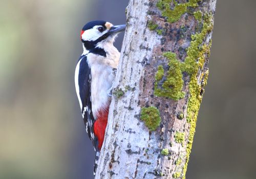
M 78 85 L 79 85 L 79 95 L 82 102 L 82 116 L 84 124 L 86 125 L 86 131 L 89 138 L 91 139 L 94 149 L 97 149 L 98 139 L 94 136 L 93 125 L 95 119 L 92 114 L 92 101 L 91 101 L 91 69 L 87 63 L 87 56 L 83 55 L 79 59 L 79 75 L 78 75 Z M 79 62 L 78 61 L 78 62 Z

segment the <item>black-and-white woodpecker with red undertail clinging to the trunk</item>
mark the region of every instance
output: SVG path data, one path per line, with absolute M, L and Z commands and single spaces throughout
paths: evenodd
M 86 131 L 96 151 L 94 174 L 108 123 L 112 85 L 120 53 L 113 42 L 125 25 L 96 20 L 86 24 L 80 34 L 83 53 L 75 69 L 75 88 Z

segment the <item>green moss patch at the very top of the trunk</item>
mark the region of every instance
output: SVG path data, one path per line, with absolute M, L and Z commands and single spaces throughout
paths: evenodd
M 162 11 L 162 16 L 167 17 L 169 23 L 174 23 L 180 19 L 181 15 L 187 12 L 188 7 L 196 8 L 198 7 L 198 2 L 202 0 L 189 0 L 187 3 L 178 4 L 173 0 L 159 0 L 157 2 L 157 7 Z M 174 9 L 170 8 L 170 3 L 174 3 Z

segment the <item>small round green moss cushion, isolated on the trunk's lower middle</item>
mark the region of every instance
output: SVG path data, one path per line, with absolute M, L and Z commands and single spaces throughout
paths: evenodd
M 144 121 L 150 131 L 156 130 L 161 122 L 160 112 L 154 106 L 143 107 L 141 109 L 141 120 Z

